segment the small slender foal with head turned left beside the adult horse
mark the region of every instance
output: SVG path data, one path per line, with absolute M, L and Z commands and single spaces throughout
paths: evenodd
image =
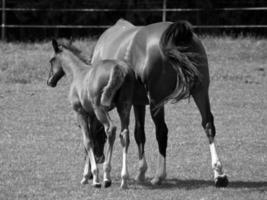
M 111 157 L 116 127 L 108 111 L 116 107 L 121 121 L 120 140 L 123 147 L 121 188 L 127 188 L 128 126 L 134 89 L 133 71 L 127 63 L 118 60 L 103 60 L 91 66 L 80 55 L 80 51 L 70 43 L 53 40 L 52 45 L 55 54 L 50 60 L 51 69 L 47 84 L 56 87 L 57 82 L 65 74 L 72 77 L 69 100 L 77 115 L 87 153 L 81 183 L 88 183 L 92 173 L 93 186 L 101 187 L 94 152 L 95 133 L 92 132 L 94 119 L 97 118 L 105 128 L 108 141 L 103 165 L 103 185 L 104 187 L 111 185 Z

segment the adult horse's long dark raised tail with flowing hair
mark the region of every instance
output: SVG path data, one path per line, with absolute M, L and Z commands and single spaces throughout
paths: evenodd
M 174 103 L 188 98 L 199 80 L 199 72 L 194 64 L 196 53 L 183 52 L 193 39 L 192 26 L 187 21 L 177 21 L 171 24 L 162 34 L 160 47 L 166 60 L 177 72 L 177 84 L 171 95 L 160 103 L 161 105 L 173 99 Z

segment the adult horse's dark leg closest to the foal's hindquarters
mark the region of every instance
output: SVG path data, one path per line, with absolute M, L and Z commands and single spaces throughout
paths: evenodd
M 147 171 L 147 162 L 145 158 L 145 105 L 137 106 L 134 105 L 134 115 L 135 115 L 135 129 L 134 137 L 138 147 L 138 157 L 139 157 L 139 171 L 135 178 L 138 182 L 143 182 L 145 180 L 145 173 Z

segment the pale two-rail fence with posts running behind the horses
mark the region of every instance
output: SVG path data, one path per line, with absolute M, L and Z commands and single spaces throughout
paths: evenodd
M 161 12 L 162 13 L 162 21 L 166 21 L 167 12 L 206 12 L 206 11 L 267 11 L 267 7 L 243 7 L 243 8 L 213 8 L 213 9 L 204 9 L 204 8 L 166 8 L 166 1 L 163 0 L 162 8 L 151 8 L 151 9 L 99 9 L 99 8 L 55 8 L 55 9 L 43 9 L 43 8 L 6 8 L 5 0 L 2 0 L 2 7 L 0 8 L 2 12 L 2 24 L 1 24 L 1 39 L 5 40 L 6 37 L 6 28 L 42 28 L 42 29 L 54 29 L 54 28 L 64 28 L 64 29 L 99 29 L 99 28 L 108 28 L 110 25 L 28 25 L 28 24 L 7 24 L 6 23 L 6 12 L 38 12 L 38 11 L 46 11 L 46 12 Z M 267 24 L 257 25 L 257 24 L 249 24 L 249 25 L 196 25 L 194 28 L 199 29 L 241 29 L 241 28 L 267 28 Z

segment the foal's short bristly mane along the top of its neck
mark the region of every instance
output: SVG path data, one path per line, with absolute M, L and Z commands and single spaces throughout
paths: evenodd
M 74 46 L 71 41 L 67 41 L 63 39 L 63 40 L 60 40 L 58 44 L 63 46 L 65 49 L 69 50 L 70 52 L 72 52 L 77 58 L 79 58 L 86 65 L 91 65 L 91 58 L 88 59 L 87 57 L 82 55 L 82 51 L 78 49 L 76 46 Z

